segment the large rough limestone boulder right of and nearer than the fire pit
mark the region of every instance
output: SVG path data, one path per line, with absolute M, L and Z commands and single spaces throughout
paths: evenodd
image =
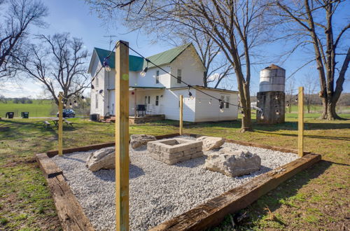
M 258 171 L 260 166 L 260 157 L 244 150 L 211 153 L 204 165 L 206 169 L 232 177 L 251 174 Z

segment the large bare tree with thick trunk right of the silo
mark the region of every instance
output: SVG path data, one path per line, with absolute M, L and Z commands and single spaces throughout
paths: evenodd
M 349 2 L 341 0 L 275 1 L 277 14 L 288 29 L 293 27 L 293 36 L 300 39 L 297 46 L 313 47 L 321 91 L 323 113 L 321 118 L 340 119 L 335 106 L 343 90 L 345 73 L 350 60 L 349 44 L 344 43 L 345 32 L 350 23 L 340 25 L 335 20 L 339 8 L 349 8 Z M 341 27 L 341 29 L 338 29 Z M 337 32 L 337 33 L 336 33 Z M 338 57 L 344 55 L 343 57 Z M 338 66 L 340 64 L 340 68 Z M 337 80 L 335 78 L 337 76 Z M 336 80 L 336 83 L 335 83 Z

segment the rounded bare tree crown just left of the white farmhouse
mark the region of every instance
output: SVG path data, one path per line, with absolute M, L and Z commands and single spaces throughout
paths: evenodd
M 40 45 L 31 44 L 28 52 L 17 59 L 18 70 L 43 83 L 58 105 L 58 92 L 65 98 L 80 95 L 88 86 L 87 50 L 79 38 L 68 33 L 38 36 Z

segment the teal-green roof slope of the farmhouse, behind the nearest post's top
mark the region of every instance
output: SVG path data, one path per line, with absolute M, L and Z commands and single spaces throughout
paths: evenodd
M 102 64 L 104 63 L 104 58 L 111 52 L 101 48 L 94 48 L 94 50 L 96 50 L 97 55 L 99 56 L 99 61 Z M 135 55 L 129 55 L 129 71 L 141 71 L 143 65 L 143 58 Z M 111 66 L 111 68 L 116 68 L 116 52 L 112 52 L 111 56 L 109 57 L 109 66 Z

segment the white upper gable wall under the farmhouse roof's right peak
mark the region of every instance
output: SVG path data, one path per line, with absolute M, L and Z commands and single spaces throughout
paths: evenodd
M 204 66 L 197 56 L 193 46 L 184 50 L 171 64 L 171 73 L 177 76 L 177 69 L 181 69 L 181 79 L 190 85 L 203 85 Z M 177 83 L 177 79 L 171 79 L 170 87 L 186 87 L 183 83 Z

